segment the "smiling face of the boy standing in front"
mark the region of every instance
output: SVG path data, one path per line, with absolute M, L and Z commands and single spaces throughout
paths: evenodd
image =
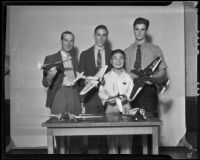
M 111 57 L 110 63 L 114 69 L 122 69 L 125 64 L 125 57 L 122 53 L 117 52 Z

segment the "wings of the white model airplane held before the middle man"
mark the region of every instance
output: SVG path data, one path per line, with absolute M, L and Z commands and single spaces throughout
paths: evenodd
M 102 82 L 103 75 L 105 74 L 108 66 L 103 66 L 95 76 L 88 76 L 85 79 L 90 79 L 89 83 L 81 90 L 80 95 L 85 95 L 92 88 L 97 87 L 100 82 Z

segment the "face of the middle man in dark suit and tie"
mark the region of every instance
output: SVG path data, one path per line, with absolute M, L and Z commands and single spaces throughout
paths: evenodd
M 108 38 L 108 33 L 105 29 L 98 29 L 94 34 L 95 44 L 99 47 L 103 47 Z

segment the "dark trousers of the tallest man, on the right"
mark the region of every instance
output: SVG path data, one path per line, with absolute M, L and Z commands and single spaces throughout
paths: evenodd
M 158 93 L 154 85 L 145 85 L 136 99 L 131 102 L 131 108 L 144 108 L 146 112 L 150 112 L 153 116 L 158 117 Z M 142 137 L 140 135 L 133 136 L 133 154 L 141 154 Z M 147 137 L 148 146 L 152 143 L 150 135 Z M 148 147 L 149 148 L 149 147 Z

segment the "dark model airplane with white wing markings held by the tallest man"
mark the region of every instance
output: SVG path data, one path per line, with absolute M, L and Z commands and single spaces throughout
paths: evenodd
M 157 57 L 153 60 L 144 70 L 132 70 L 131 73 L 138 76 L 138 78 L 134 79 L 134 87 L 130 95 L 130 99 L 134 100 L 138 93 L 142 90 L 143 86 L 145 85 L 146 81 L 150 81 L 151 83 L 155 84 L 160 93 L 163 93 L 169 85 L 170 80 L 166 79 L 163 81 L 154 79 L 151 77 L 156 71 L 158 66 L 161 63 L 161 58 Z

